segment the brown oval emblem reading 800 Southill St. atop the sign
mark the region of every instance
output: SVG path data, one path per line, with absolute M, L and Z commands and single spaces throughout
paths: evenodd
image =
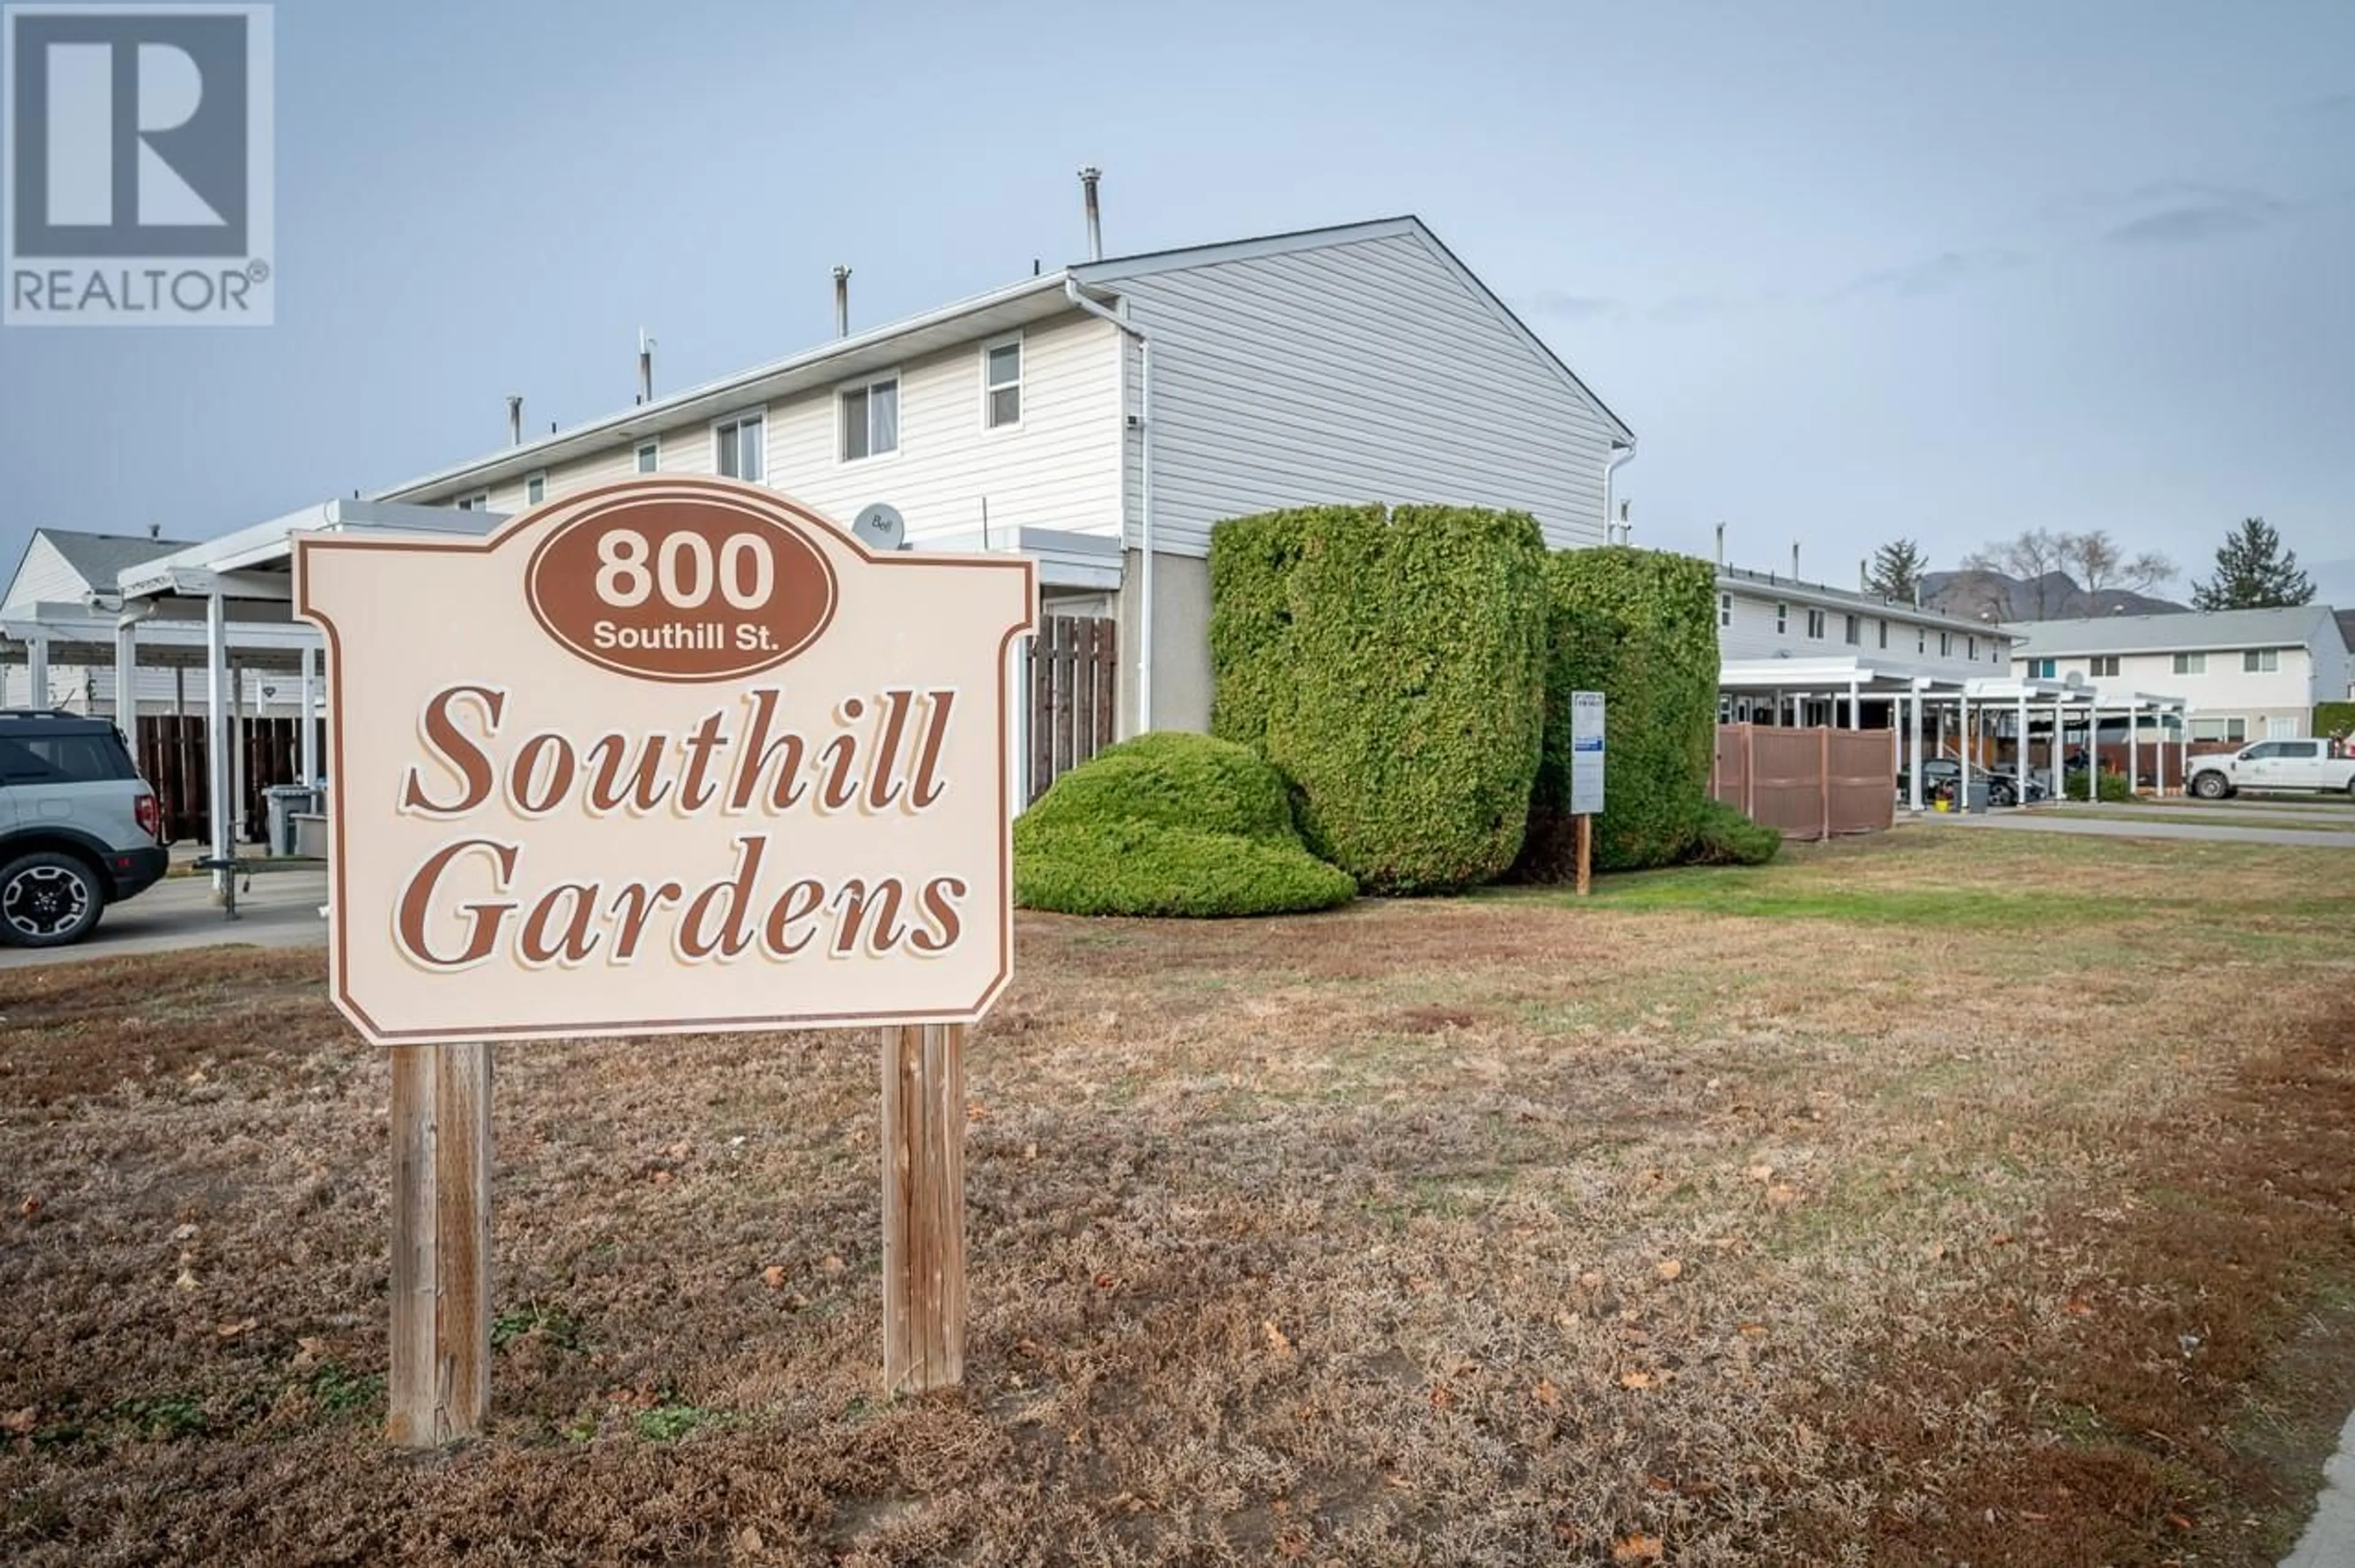
M 796 527 L 690 497 L 617 501 L 549 534 L 523 574 L 549 636 L 645 680 L 784 664 L 834 619 L 834 567 Z

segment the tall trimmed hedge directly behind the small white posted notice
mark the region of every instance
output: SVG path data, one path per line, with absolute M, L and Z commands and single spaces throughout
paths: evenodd
M 1594 866 L 1672 866 L 1712 822 L 1717 574 L 1691 556 L 1604 546 L 1552 553 L 1545 584 L 1545 753 L 1514 873 L 1566 881 L 1573 869 L 1571 692 L 1604 695 Z

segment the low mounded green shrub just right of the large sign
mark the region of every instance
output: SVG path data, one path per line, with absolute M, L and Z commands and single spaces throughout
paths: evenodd
M 1283 779 L 1246 746 L 1154 732 L 1055 779 L 1015 819 L 1015 902 L 1086 916 L 1262 916 L 1356 885 L 1293 831 Z

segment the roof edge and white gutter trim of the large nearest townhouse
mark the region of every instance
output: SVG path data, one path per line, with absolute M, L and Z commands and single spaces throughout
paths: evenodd
M 1022 278 L 1020 283 L 987 294 L 940 306 L 937 311 L 926 311 L 923 315 L 907 315 L 881 327 L 869 327 L 867 332 L 853 332 L 850 337 L 838 337 L 782 360 L 739 370 L 735 374 L 718 377 L 716 381 L 704 381 L 666 398 L 655 398 L 652 403 L 641 403 L 617 414 L 577 424 L 570 431 L 553 431 L 447 469 L 436 469 L 433 473 L 422 473 L 412 480 L 377 490 L 370 499 L 414 501 L 419 497 L 433 497 L 450 490 L 473 490 L 480 485 L 518 480 L 525 473 L 535 473 L 553 464 L 612 452 L 619 445 L 643 440 L 657 431 L 692 424 L 697 419 L 718 419 L 756 403 L 765 405 L 815 386 L 848 381 L 867 370 L 885 370 L 937 348 L 954 348 L 977 337 L 1013 332 L 1015 327 L 1069 311 L 1072 304 L 1067 299 L 1067 285 L 1074 283 L 1119 292 L 1121 278 L 1145 278 L 1187 266 L 1215 266 L 1220 261 L 1276 257 L 1298 250 L 1331 250 L 1338 245 L 1356 245 L 1364 240 L 1406 233 L 1420 238 L 1432 254 L 1458 275 L 1474 299 L 1495 311 L 1505 327 L 1519 337 L 1531 353 L 1568 381 L 1580 398 L 1594 405 L 1594 412 L 1611 426 L 1620 443 L 1634 445 L 1634 433 L 1625 426 L 1625 421 L 1620 421 L 1620 417 L 1613 414 L 1604 400 L 1597 398 L 1587 384 L 1580 381 L 1571 367 L 1564 365 L 1561 358 L 1505 306 L 1502 299 L 1488 292 L 1488 285 L 1474 278 L 1472 271 L 1455 259 L 1455 252 L 1441 245 L 1439 238 L 1422 226 L 1422 219 L 1392 217 L 1368 224 L 1300 228 L 1295 233 L 1262 235 L 1255 240 L 1189 245 L 1182 250 L 1156 250 L 1064 266 L 1053 273 Z

